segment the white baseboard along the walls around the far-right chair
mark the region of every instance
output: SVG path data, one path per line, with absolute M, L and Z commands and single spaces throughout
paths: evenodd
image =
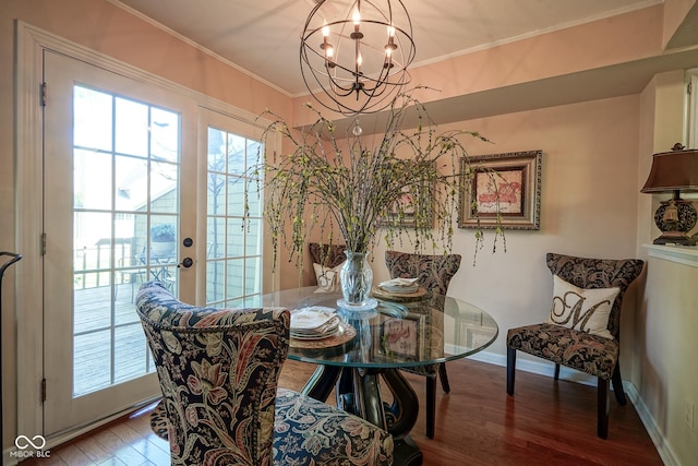
M 480 362 L 486 362 L 494 366 L 506 367 L 506 356 L 495 354 L 495 353 L 481 351 L 472 356 L 469 356 L 469 359 L 480 361 Z M 555 374 L 555 365 L 553 362 L 544 361 L 542 359 L 539 361 L 533 361 L 533 360 L 517 358 L 516 370 L 553 378 Z M 595 377 L 576 371 L 574 369 L 568 369 L 565 367 L 559 368 L 559 378 L 566 381 L 577 382 L 585 385 L 597 386 Z M 504 385 L 502 390 L 505 390 Z M 647 405 L 645 404 L 645 401 L 639 396 L 639 393 L 635 384 L 630 381 L 624 380 L 623 390 L 625 390 L 625 393 L 628 399 L 630 401 L 630 403 L 635 407 L 635 410 L 640 417 L 640 420 L 642 421 L 645 429 L 647 429 L 647 433 L 650 435 L 652 443 L 654 443 L 654 447 L 657 449 L 657 452 L 662 458 L 662 462 L 664 462 L 666 466 L 681 466 L 681 464 L 676 459 L 676 455 L 674 455 L 671 447 L 666 443 L 666 439 L 664 438 L 664 435 L 662 435 L 662 432 L 658 428 L 654 417 L 648 409 Z

